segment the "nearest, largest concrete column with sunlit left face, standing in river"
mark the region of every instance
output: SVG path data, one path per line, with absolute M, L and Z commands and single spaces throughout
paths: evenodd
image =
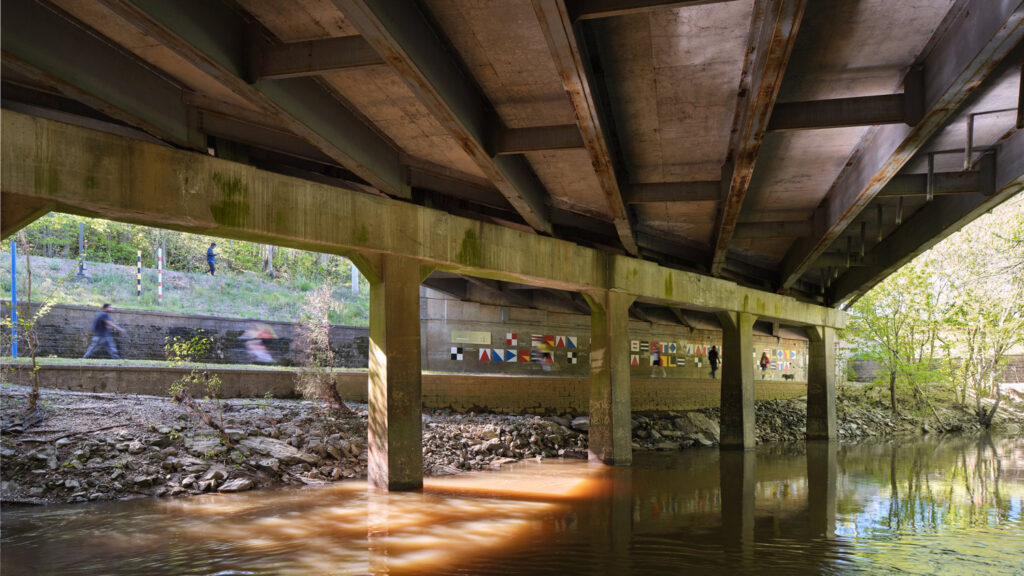
M 423 488 L 420 283 L 429 272 L 402 256 L 354 261 L 370 280 L 367 477 L 383 490 L 418 490 Z

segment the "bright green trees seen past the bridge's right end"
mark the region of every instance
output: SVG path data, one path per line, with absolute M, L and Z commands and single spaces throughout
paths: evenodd
M 1024 197 L 972 222 L 861 297 L 843 338 L 882 367 L 893 410 L 929 396 L 974 399 L 984 423 L 996 379 L 1024 343 Z M 983 401 L 991 399 L 987 408 Z

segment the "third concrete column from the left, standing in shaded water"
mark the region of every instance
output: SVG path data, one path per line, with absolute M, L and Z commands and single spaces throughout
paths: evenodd
M 748 313 L 723 312 L 722 323 L 722 448 L 752 449 L 754 429 L 754 321 Z

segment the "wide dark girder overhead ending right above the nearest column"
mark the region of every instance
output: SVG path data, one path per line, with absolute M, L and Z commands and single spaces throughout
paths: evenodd
M 382 192 L 409 198 L 400 152 L 316 80 L 245 77 L 249 54 L 265 43 L 230 6 L 203 0 L 102 0 L 155 41 L 176 52 L 236 94 L 257 102 L 292 133 Z M 151 105 L 152 106 L 152 105 Z

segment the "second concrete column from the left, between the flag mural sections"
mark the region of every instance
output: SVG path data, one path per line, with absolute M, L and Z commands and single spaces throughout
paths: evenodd
M 590 304 L 590 459 L 633 463 L 630 409 L 629 310 L 635 296 L 609 290 L 585 293 Z

